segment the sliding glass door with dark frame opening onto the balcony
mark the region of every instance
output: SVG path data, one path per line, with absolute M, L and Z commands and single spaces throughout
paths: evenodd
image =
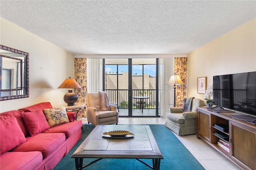
M 105 59 L 105 91 L 120 117 L 158 117 L 158 59 Z M 157 90 L 156 90 L 157 89 Z

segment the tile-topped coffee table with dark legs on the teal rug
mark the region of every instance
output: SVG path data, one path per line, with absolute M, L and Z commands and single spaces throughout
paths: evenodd
M 134 137 L 102 136 L 104 132 L 113 130 L 127 130 L 134 134 Z M 159 170 L 160 160 L 164 159 L 148 125 L 97 125 L 71 158 L 75 158 L 76 170 L 82 170 L 103 158 L 135 158 L 153 170 Z M 83 166 L 84 158 L 98 159 Z M 153 166 L 140 159 L 152 159 Z

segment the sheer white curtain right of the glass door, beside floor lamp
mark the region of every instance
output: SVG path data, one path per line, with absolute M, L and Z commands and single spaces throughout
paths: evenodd
M 159 59 L 159 104 L 160 116 L 165 118 L 165 113 L 173 103 L 173 85 L 167 85 L 171 75 L 174 73 L 174 58 Z

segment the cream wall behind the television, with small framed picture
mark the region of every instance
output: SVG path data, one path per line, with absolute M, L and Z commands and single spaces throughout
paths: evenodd
M 197 77 L 256 71 L 256 18 L 188 54 L 187 96 L 204 99 L 197 93 Z

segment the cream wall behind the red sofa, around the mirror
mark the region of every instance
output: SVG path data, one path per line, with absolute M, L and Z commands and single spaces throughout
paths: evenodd
M 66 50 L 0 18 L 0 44 L 29 53 L 29 97 L 0 101 L 0 113 L 49 101 L 64 104 L 68 89 L 58 86 L 74 78 L 74 55 Z

